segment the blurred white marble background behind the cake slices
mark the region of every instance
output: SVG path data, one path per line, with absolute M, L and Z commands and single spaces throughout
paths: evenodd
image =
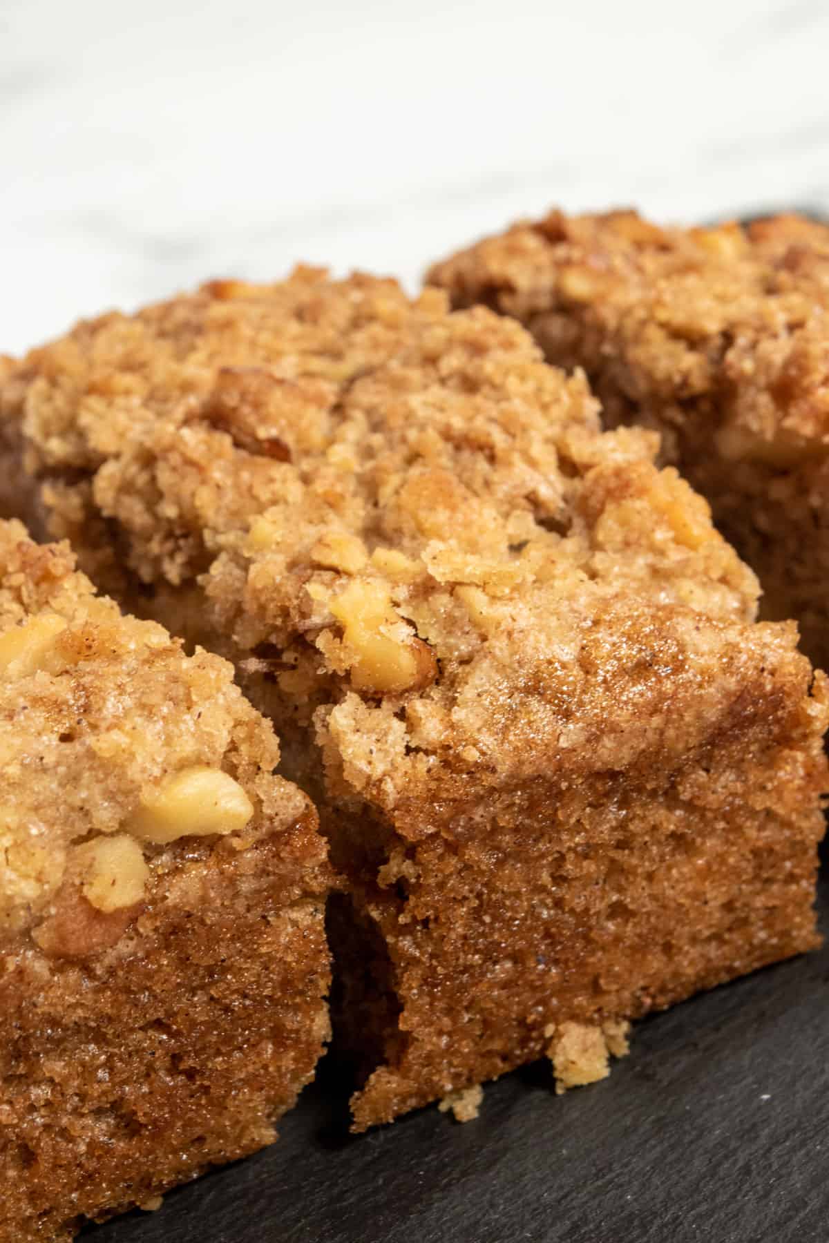
M 829 208 L 820 0 L 0 0 L 0 351 L 516 215 Z

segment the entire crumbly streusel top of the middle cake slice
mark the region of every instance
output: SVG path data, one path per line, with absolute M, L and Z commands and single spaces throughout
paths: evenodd
M 656 438 L 600 433 L 580 374 L 437 291 L 213 282 L 80 324 L 2 398 L 86 563 L 103 539 L 157 588 L 199 577 L 213 633 L 382 802 L 437 759 L 646 766 L 752 680 L 802 687 L 781 720 L 805 694 L 793 628 L 746 626 L 756 579 Z

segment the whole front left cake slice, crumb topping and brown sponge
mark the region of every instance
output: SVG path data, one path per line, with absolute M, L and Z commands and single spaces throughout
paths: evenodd
M 0 1239 L 270 1144 L 328 1035 L 328 864 L 231 666 L 0 523 Z

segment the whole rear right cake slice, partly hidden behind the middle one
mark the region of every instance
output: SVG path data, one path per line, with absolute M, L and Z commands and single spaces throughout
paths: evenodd
M 655 428 L 759 576 L 763 615 L 795 618 L 829 667 L 829 229 L 553 211 L 429 278 L 584 368 L 609 425 Z

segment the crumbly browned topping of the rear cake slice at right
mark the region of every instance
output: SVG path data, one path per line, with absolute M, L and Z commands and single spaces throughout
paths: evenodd
M 797 215 L 662 229 L 634 211 L 521 221 L 436 264 L 459 306 L 527 323 L 671 420 L 713 406 L 730 459 L 788 466 L 829 444 L 829 229 Z

